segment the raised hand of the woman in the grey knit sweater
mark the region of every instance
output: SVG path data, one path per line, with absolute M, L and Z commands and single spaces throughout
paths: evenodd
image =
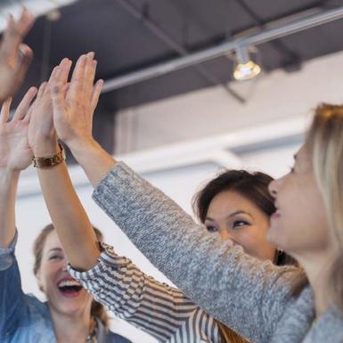
M 103 84 L 99 80 L 94 86 L 95 70 L 94 53 L 87 53 L 78 59 L 68 89 L 63 78 L 53 82 L 53 123 L 69 148 L 93 140 L 93 114 Z

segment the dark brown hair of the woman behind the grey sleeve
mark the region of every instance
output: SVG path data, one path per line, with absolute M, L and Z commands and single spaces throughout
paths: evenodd
M 209 204 L 213 198 L 220 192 L 233 191 L 240 193 L 244 198 L 253 202 L 257 208 L 269 217 L 275 211 L 274 199 L 268 191 L 268 184 L 271 181 L 273 181 L 272 176 L 261 172 L 249 173 L 246 170 L 226 170 L 195 194 L 192 201 L 193 211 L 200 222 L 204 224 Z M 276 251 L 274 264 L 296 265 L 297 262 L 283 251 Z M 218 323 L 218 326 L 222 342 L 248 343 L 247 339 L 227 328 L 223 323 Z

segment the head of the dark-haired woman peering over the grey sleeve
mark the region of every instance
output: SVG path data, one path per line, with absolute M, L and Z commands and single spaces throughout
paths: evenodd
M 200 192 L 195 194 L 193 210 L 200 219 L 200 223 L 204 224 L 209 232 L 218 232 L 223 239 L 236 242 L 249 255 L 261 260 L 267 257 L 273 260 L 275 265 L 296 265 L 297 262 L 292 257 L 282 250 L 274 249 L 265 240 L 269 217 L 275 212 L 274 199 L 268 191 L 268 185 L 272 181 L 272 176 L 261 172 L 227 170 L 209 181 Z M 227 216 L 227 208 L 230 208 L 229 204 L 234 200 L 241 207 L 249 201 L 254 204 L 260 210 L 260 214 L 267 217 L 265 225 L 251 225 L 250 214 L 241 210 L 240 206 L 238 206 L 239 210 Z M 218 212 L 221 204 L 225 204 L 226 208 L 223 213 L 224 220 L 220 223 L 212 217 L 220 217 Z M 228 228 L 230 222 L 232 222 L 231 230 Z

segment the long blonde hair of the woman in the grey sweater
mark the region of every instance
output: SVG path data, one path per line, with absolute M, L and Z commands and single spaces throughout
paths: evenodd
M 339 244 L 339 256 L 330 266 L 328 291 L 332 303 L 343 310 L 343 105 L 323 103 L 315 109 L 306 147 L 312 153 L 331 233 Z

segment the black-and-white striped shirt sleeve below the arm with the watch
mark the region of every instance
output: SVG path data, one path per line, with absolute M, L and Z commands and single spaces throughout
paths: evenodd
M 69 273 L 119 318 L 159 342 L 220 343 L 216 320 L 166 283 L 143 274 L 128 258 L 103 244 L 99 263 L 87 272 Z

